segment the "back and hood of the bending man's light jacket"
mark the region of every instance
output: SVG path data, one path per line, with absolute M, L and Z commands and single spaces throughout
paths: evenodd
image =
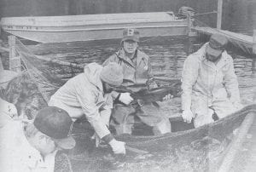
M 102 66 L 96 63 L 84 66 L 83 73 L 69 79 L 51 96 L 49 106 L 60 106 L 76 120 L 84 115 L 84 108 L 89 108 L 86 104 L 97 103 L 98 107 L 107 104 L 108 97 L 101 94 L 101 72 Z M 87 103 L 82 105 L 82 102 Z

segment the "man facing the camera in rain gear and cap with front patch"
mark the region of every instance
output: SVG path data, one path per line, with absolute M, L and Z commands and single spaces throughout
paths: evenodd
M 158 87 L 154 82 L 149 57 L 147 54 L 143 53 L 143 51 L 138 49 L 138 42 L 139 32 L 137 29 L 125 29 L 120 43 L 121 48 L 103 63 L 103 66 L 106 66 L 110 62 L 116 62 L 119 66 L 122 66 L 124 74 L 124 82 L 122 85 L 132 91 Z M 111 125 L 113 125 L 118 135 L 124 133 L 131 134 L 131 129 L 134 124 L 134 116 L 132 114 L 135 113 L 143 123 L 153 127 L 154 135 L 162 135 L 171 132 L 171 123 L 169 122 L 169 119 L 166 118 L 159 109 L 154 108 L 152 105 L 143 105 L 144 109 L 152 110 L 154 112 L 136 112 L 132 106 L 129 106 L 132 101 L 129 93 L 119 94 L 113 92 L 113 97 L 123 103 L 114 104 L 112 113 L 113 120 L 111 121 Z M 170 98 L 171 95 L 166 95 L 164 100 Z M 146 108 L 146 106 L 148 108 Z

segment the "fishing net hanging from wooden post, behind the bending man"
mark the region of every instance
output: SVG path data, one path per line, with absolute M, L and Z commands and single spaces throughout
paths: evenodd
M 82 65 L 32 54 L 17 38 L 15 50 L 20 55 L 22 64 L 30 77 L 32 77 L 32 80 L 38 83 L 38 89 L 44 98 L 44 103 L 47 103 L 49 97 L 55 93 L 56 89 L 59 89 L 61 85 L 67 81 L 67 77 L 65 77 L 64 74 L 58 76 L 55 74 L 55 70 L 67 74 L 67 71 L 73 70 L 73 68 L 83 69 Z M 55 70 L 50 70 L 49 67 L 46 66 L 53 67 Z M 73 77 L 73 75 L 71 77 Z

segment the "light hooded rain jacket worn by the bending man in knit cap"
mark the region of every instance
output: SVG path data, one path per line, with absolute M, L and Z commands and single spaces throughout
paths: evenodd
M 49 100 L 49 106 L 58 106 L 76 120 L 83 115 L 100 138 L 110 134 L 101 114 L 110 117 L 113 100 L 104 95 L 100 73 L 102 66 L 90 63 L 84 66 L 84 73 L 67 81 Z

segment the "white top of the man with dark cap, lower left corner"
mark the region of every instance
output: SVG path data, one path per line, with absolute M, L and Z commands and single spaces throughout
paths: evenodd
M 0 167 L 8 172 L 53 172 L 55 152 L 42 157 L 26 139 L 24 123 L 9 120 L 0 128 Z

